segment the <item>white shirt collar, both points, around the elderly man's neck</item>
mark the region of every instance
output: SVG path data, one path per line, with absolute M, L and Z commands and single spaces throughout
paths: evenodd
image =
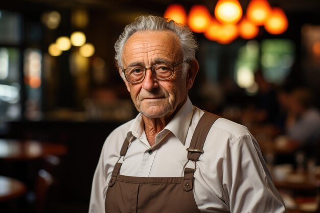
M 163 133 L 163 131 L 169 130 L 181 141 L 182 144 L 185 144 L 188 129 L 192 119 L 192 115 L 193 115 L 193 106 L 188 97 L 186 103 L 182 105 L 182 107 L 174 115 L 172 120 L 167 124 L 164 130 L 162 130 L 160 133 Z M 143 135 L 143 133 L 144 133 L 144 124 L 143 124 L 142 114 L 139 113 L 133 120 L 130 128 L 128 129 L 127 138 L 131 142 L 133 137 L 140 138 Z

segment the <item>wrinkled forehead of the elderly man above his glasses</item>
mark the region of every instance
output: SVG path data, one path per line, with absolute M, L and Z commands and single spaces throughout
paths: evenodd
M 182 58 L 177 35 L 171 31 L 138 31 L 124 45 L 122 63 L 133 61 L 150 63 L 155 58 L 175 61 Z M 150 64 L 148 64 L 150 65 Z

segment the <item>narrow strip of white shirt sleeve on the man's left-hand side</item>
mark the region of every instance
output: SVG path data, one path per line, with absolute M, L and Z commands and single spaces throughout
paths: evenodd
M 104 186 L 106 183 L 106 177 L 104 172 L 103 163 L 104 147 L 102 149 L 98 165 L 94 174 L 92 182 L 92 190 L 90 196 L 89 213 L 102 213 L 104 212 Z

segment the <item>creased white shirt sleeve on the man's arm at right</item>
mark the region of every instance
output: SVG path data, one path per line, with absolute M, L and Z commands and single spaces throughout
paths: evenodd
M 232 213 L 286 212 L 260 148 L 251 135 L 237 138 L 228 158 L 226 167 L 231 176 L 228 200 Z

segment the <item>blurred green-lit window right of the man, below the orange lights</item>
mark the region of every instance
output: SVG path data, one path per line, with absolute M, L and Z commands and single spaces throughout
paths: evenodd
M 281 84 L 290 74 L 295 45 L 289 39 L 251 40 L 239 51 L 235 66 L 235 81 L 247 94 L 258 92 L 254 73 L 261 69 L 267 82 Z

